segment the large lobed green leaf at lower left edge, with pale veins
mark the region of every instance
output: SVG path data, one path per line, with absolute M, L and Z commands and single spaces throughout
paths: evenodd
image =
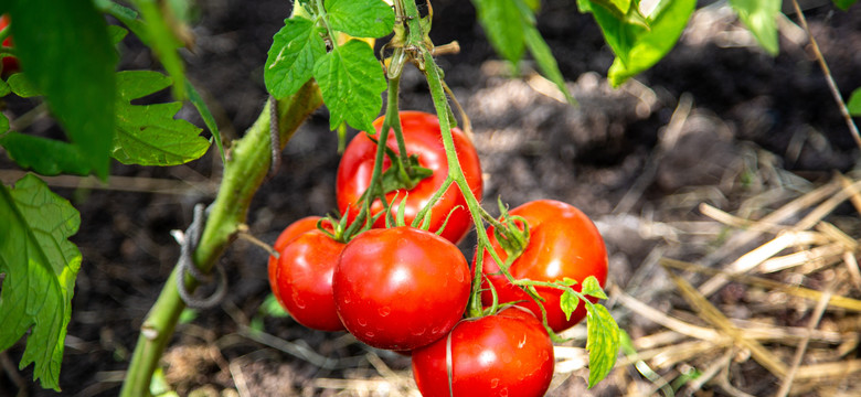
M 42 180 L 29 174 L 0 184 L 0 351 L 25 333 L 20 367 L 35 364 L 42 387 L 60 391 L 60 364 L 81 251 L 68 242 L 81 217 Z

